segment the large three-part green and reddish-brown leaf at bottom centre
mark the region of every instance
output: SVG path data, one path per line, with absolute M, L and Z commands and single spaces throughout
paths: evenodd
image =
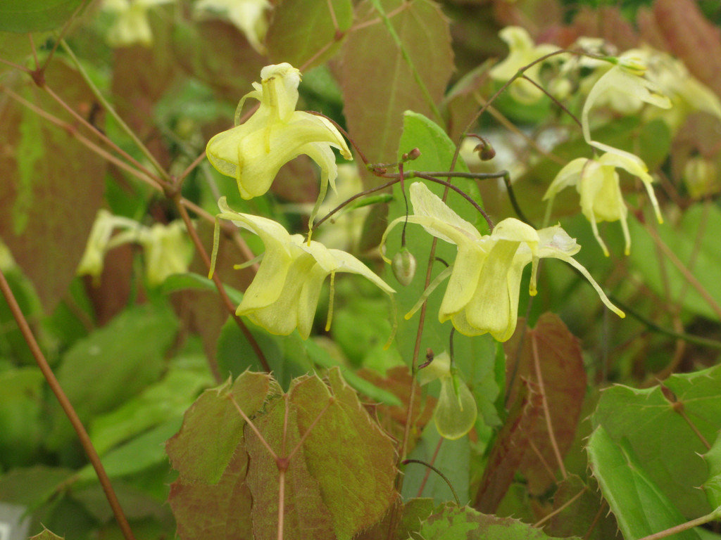
M 180 536 L 248 537 L 233 536 L 232 528 L 252 531 L 254 539 L 277 537 L 278 462 L 245 425 L 231 394 L 273 452 L 290 458 L 283 484 L 286 539 L 350 539 L 383 518 L 397 499 L 394 445 L 342 381 L 340 370 L 331 369 L 329 379 L 330 387 L 318 377 L 295 379 L 281 397 L 270 375 L 245 372 L 232 388 L 226 383 L 196 400 L 180 433 L 167 443 L 180 472 L 171 492 L 173 509 L 181 514 Z M 293 452 L 301 436 L 303 444 Z M 226 499 L 237 499 L 238 505 L 220 503 Z

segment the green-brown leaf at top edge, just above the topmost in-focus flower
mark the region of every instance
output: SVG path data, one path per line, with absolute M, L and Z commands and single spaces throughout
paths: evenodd
M 308 70 L 335 53 L 340 45 L 337 35 L 352 23 L 350 0 L 283 0 L 273 9 L 265 45 L 273 63 L 288 62 Z

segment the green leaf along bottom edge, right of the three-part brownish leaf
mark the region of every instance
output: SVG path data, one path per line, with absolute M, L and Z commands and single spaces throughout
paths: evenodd
M 539 528 L 512 518 L 479 513 L 473 508 L 446 503 L 423 522 L 413 540 L 545 540 L 550 536 Z

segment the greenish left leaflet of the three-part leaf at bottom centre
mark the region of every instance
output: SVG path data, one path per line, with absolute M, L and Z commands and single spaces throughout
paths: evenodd
M 174 469 L 183 482 L 216 484 L 243 441 L 246 415 L 254 415 L 269 392 L 277 392 L 270 375 L 245 372 L 212 390 L 205 390 L 185 412 L 180 432 L 166 444 Z

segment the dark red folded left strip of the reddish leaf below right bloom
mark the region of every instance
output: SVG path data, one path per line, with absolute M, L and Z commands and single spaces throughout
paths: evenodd
M 542 400 L 533 382 L 521 379 L 508 417 L 491 450 L 481 485 L 473 504 L 482 513 L 495 513 L 508 491 L 523 456 L 531 451 L 528 434 L 542 421 Z

